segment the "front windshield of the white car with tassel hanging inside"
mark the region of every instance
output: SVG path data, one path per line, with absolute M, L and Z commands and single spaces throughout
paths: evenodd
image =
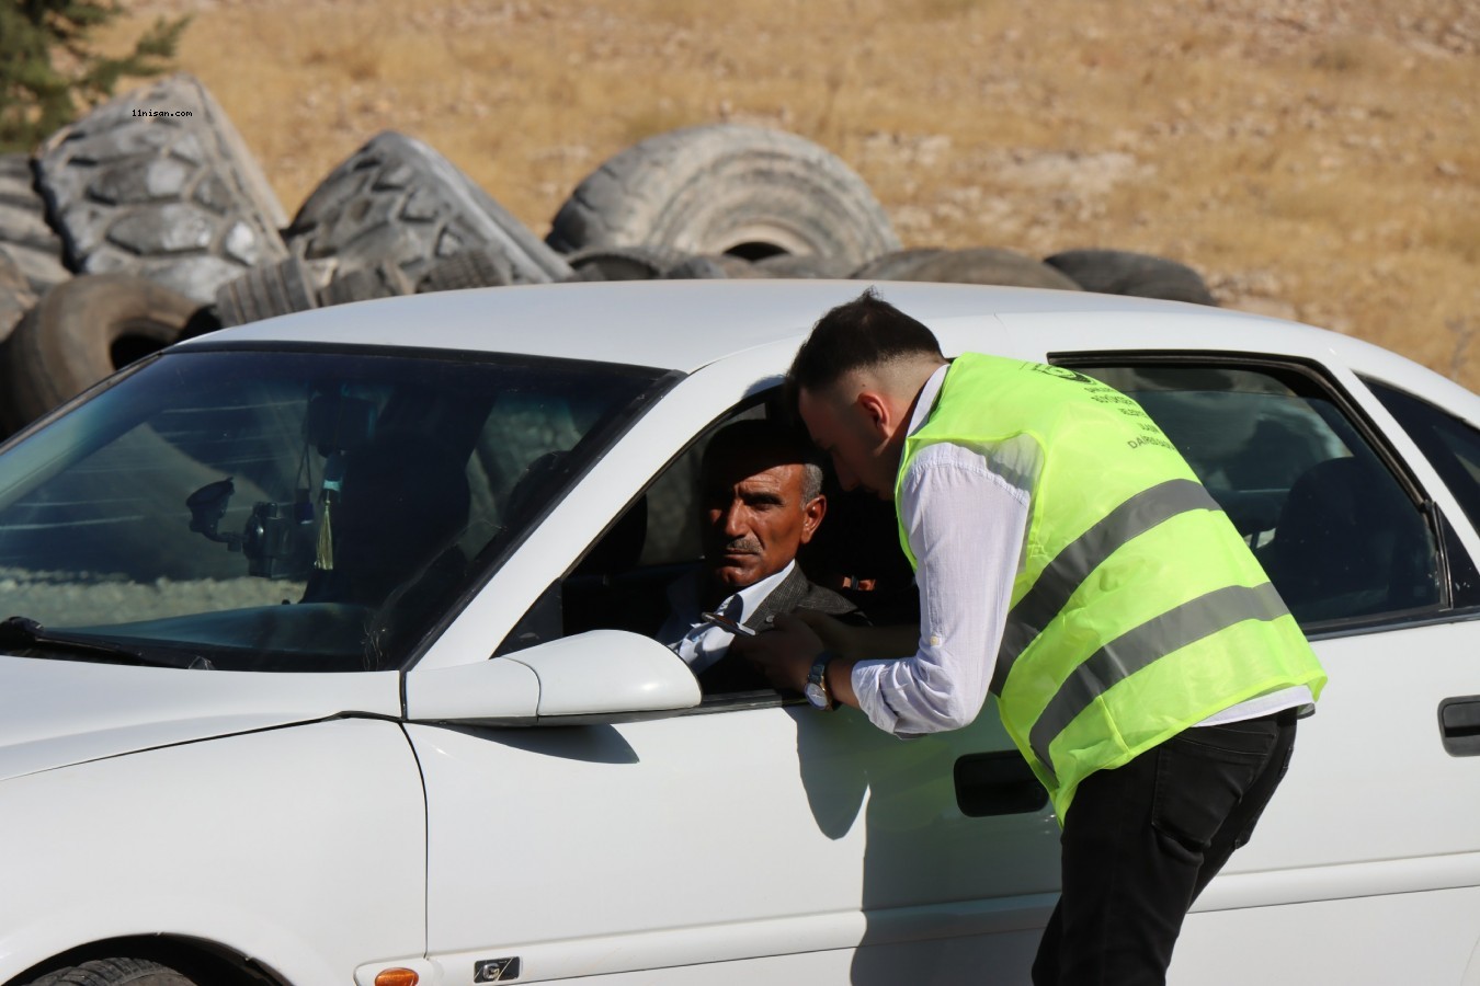
M 0 619 L 24 618 L 31 650 L 6 649 L 397 667 L 665 378 L 423 350 L 164 353 L 0 454 Z

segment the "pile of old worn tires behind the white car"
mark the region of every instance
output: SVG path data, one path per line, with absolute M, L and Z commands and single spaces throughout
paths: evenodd
M 662 133 L 611 157 L 545 239 L 395 132 L 330 171 L 289 220 L 219 103 L 181 74 L 33 155 L 0 155 L 0 435 L 223 325 L 416 291 L 651 278 L 947 281 L 1214 303 L 1196 271 L 1147 254 L 903 248 L 842 160 L 740 124 Z

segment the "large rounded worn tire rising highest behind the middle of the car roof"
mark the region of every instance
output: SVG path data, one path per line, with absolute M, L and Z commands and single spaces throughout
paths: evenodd
M 561 253 L 648 245 L 855 265 L 900 245 L 841 158 L 796 135 L 741 124 L 660 133 L 608 158 L 561 205 L 546 242 Z

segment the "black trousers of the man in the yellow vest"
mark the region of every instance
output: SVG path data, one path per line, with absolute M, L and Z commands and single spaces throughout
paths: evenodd
M 1197 726 L 1079 785 L 1035 986 L 1166 982 L 1183 918 L 1289 767 L 1295 710 Z

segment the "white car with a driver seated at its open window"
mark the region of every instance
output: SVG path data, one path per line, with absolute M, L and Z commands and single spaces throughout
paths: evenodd
M 706 435 L 780 414 L 863 287 L 321 309 L 10 439 L 0 982 L 1026 983 L 1058 825 L 990 702 L 901 742 L 702 695 L 638 625 L 699 562 Z M 1172 982 L 1480 983 L 1480 398 L 1228 310 L 881 291 L 947 355 L 1141 401 L 1331 676 Z M 894 537 L 854 517 L 835 551 Z M 897 562 L 810 565 L 878 574 L 887 613 Z

